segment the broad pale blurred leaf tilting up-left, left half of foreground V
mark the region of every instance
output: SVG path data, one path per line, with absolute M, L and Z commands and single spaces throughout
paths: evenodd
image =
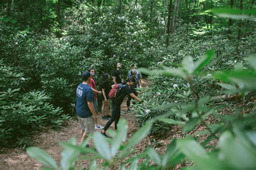
M 109 147 L 109 143 L 105 139 L 105 137 L 102 136 L 99 132 L 95 132 L 93 134 L 93 141 L 96 147 L 96 150 L 102 156 L 102 158 L 111 161 L 112 156 L 111 156 L 111 150 Z

